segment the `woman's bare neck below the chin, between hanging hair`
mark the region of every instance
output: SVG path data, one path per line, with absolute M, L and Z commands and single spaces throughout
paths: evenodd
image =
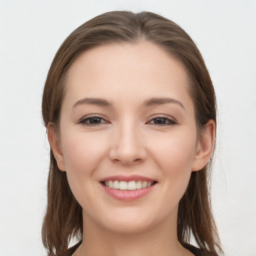
M 178 243 L 176 220 L 139 232 L 119 233 L 102 228 L 87 216 L 83 216 L 83 241 L 77 252 L 79 256 L 190 255 Z

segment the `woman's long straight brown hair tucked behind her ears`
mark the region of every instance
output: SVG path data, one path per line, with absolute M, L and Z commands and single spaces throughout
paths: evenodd
M 76 28 L 61 44 L 51 63 L 42 96 L 42 116 L 58 131 L 66 73 L 81 52 L 102 44 L 148 41 L 175 57 L 189 78 L 197 133 L 209 119 L 216 123 L 216 103 L 212 82 L 203 58 L 189 35 L 176 23 L 151 12 L 112 11 L 98 15 Z M 177 235 L 183 246 L 193 236 L 198 246 L 212 255 L 222 252 L 211 212 L 209 174 L 211 160 L 191 173 L 188 187 L 179 202 Z M 49 256 L 62 255 L 70 239 L 82 234 L 82 210 L 66 178 L 58 169 L 52 150 L 47 183 L 47 208 L 42 225 L 42 241 Z

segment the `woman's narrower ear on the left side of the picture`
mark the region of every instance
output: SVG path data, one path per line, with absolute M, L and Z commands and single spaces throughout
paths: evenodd
M 65 171 L 66 166 L 65 166 L 64 156 L 62 153 L 61 142 L 56 139 L 54 126 L 52 122 L 49 122 L 47 125 L 47 135 L 48 135 L 48 141 L 53 151 L 54 157 L 56 159 L 58 168 L 62 171 Z

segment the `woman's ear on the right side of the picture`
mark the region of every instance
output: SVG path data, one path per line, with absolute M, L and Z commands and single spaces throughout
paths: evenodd
M 215 143 L 215 122 L 210 119 L 201 133 L 192 162 L 192 171 L 202 169 L 210 159 Z

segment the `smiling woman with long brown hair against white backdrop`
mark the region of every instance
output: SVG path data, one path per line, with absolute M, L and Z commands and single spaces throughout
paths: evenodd
M 214 89 L 177 24 L 128 11 L 82 24 L 52 61 L 42 115 L 48 255 L 222 252 L 207 178 Z M 81 241 L 67 249 L 73 236 Z

